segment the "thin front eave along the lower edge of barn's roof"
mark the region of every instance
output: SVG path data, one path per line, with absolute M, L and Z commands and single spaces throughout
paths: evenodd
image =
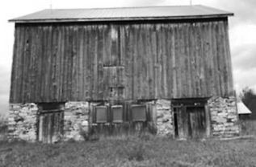
M 139 20 L 178 20 L 178 19 L 199 19 L 199 18 L 225 18 L 233 16 L 228 14 L 204 14 L 191 16 L 163 16 L 163 17 L 127 17 L 127 18 L 48 18 L 48 19 L 10 19 L 8 22 L 15 23 L 43 23 L 43 22 L 111 22 L 111 21 L 139 21 Z

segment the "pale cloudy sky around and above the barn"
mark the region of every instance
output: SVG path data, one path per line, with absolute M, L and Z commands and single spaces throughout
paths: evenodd
M 193 0 L 194 5 L 212 6 L 235 14 L 229 18 L 229 40 L 233 77 L 237 94 L 242 88 L 256 89 L 256 1 Z M 10 92 L 10 67 L 14 43 L 14 23 L 10 18 L 50 8 L 91 8 L 119 6 L 189 5 L 190 0 L 7 0 L 0 10 L 0 113 L 6 113 Z

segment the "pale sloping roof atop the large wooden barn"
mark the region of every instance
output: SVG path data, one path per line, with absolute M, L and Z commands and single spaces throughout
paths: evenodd
M 216 18 L 233 15 L 225 10 L 208 6 L 148 6 L 94 9 L 48 9 L 19 18 L 10 22 L 91 22 L 123 20 L 157 20 L 184 18 Z

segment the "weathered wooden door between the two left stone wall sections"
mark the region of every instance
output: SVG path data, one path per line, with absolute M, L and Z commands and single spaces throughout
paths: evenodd
M 38 139 L 44 143 L 54 143 L 63 135 L 64 112 L 40 112 Z

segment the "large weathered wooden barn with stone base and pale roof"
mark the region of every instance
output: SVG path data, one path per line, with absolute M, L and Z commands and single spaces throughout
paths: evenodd
M 10 138 L 238 135 L 231 15 L 207 6 L 150 6 L 11 19 Z

